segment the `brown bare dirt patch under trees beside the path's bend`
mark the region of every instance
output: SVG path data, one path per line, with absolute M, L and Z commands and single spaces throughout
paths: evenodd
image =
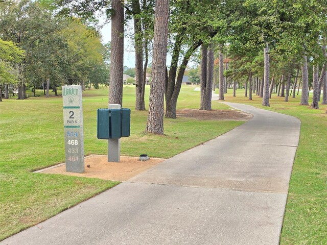
M 192 117 L 199 120 L 237 120 L 247 121 L 253 116 L 243 111 L 183 109 L 176 111 L 177 117 Z

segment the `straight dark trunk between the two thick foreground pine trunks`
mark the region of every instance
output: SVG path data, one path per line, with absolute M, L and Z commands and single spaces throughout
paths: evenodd
M 134 20 L 134 49 L 135 49 L 135 110 L 144 111 L 143 93 L 143 43 L 141 6 L 139 0 L 132 0 Z

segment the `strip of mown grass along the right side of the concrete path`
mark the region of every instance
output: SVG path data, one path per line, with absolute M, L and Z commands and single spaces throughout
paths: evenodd
M 226 102 L 249 104 L 301 120 L 280 244 L 327 244 L 327 106 L 320 105 L 319 110 L 300 106 L 300 95 L 289 97 L 289 102 L 284 99 L 273 94 L 267 108 L 256 95 L 253 101 L 245 98 L 244 89 L 237 90 L 237 97 L 232 97 L 232 90 L 225 94 Z

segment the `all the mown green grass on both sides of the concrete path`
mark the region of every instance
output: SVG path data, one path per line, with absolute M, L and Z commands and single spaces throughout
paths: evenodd
M 131 108 L 131 136 L 122 138 L 125 156 L 148 154 L 169 158 L 238 125 L 239 121 L 202 121 L 192 118 L 165 119 L 165 135 L 145 134 L 147 111 L 134 110 L 133 86 L 124 87 L 123 106 Z M 108 89 L 83 92 L 85 154 L 106 154 L 105 140 L 98 140 L 97 109 L 106 108 Z M 42 91 L 38 91 L 40 94 Z M 58 91 L 60 94 L 60 91 Z M 146 94 L 149 94 L 147 86 Z M 178 108 L 199 108 L 199 91 L 182 86 Z M 270 107 L 262 99 L 244 97 L 244 89 L 225 94 L 226 102 L 249 104 L 295 116 L 301 120 L 284 217 L 281 244 L 327 244 L 327 107 L 320 110 L 299 106 L 296 99 L 275 94 Z M 146 101 L 148 108 L 148 101 Z M 62 99 L 29 98 L 0 103 L 1 214 L 0 240 L 111 188 L 118 182 L 61 175 L 41 175 L 33 170 L 64 161 Z M 228 109 L 213 102 L 213 109 Z M 278 154 L 274 152 L 272 154 Z

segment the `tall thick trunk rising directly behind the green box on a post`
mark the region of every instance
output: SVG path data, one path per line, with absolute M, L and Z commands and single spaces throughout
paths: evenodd
M 112 0 L 111 8 L 111 64 L 109 81 L 109 104 L 123 104 L 124 63 L 124 8 L 122 1 Z

